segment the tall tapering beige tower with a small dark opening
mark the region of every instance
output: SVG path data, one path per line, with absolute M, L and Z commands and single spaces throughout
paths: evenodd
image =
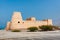
M 11 29 L 19 29 L 22 24 L 21 12 L 14 12 L 11 20 Z

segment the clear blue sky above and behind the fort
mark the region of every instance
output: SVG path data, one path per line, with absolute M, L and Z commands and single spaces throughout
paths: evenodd
M 53 25 L 60 23 L 60 0 L 0 0 L 0 28 L 11 21 L 13 12 L 21 12 L 23 19 L 52 19 Z

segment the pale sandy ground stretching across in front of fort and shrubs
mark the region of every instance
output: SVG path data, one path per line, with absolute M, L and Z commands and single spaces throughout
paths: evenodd
M 10 32 L 0 30 L 0 40 L 60 40 L 60 31 Z

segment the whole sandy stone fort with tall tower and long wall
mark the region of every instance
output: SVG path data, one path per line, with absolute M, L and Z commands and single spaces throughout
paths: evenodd
M 36 20 L 35 17 L 27 18 L 26 20 L 22 19 L 21 12 L 14 12 L 10 22 L 7 22 L 6 30 L 13 29 L 27 29 L 28 27 L 38 27 L 42 25 L 52 25 L 52 20 Z

